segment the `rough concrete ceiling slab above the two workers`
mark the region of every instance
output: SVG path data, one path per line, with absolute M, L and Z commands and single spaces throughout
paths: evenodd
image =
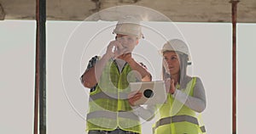
M 48 0 L 46 4 L 47 20 L 84 20 L 102 9 L 137 5 L 152 8 L 175 22 L 231 22 L 230 0 Z M 114 10 L 91 20 L 117 20 Z M 35 20 L 35 13 L 36 0 L 0 0 L 0 20 Z M 149 20 L 159 19 L 154 16 Z M 256 0 L 237 4 L 237 22 L 256 23 Z

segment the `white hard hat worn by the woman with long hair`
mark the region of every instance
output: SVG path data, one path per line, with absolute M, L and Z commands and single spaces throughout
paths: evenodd
M 187 54 L 190 60 L 189 47 L 185 42 L 179 39 L 172 39 L 165 43 L 160 53 L 163 54 L 166 51 L 175 51 L 178 53 Z

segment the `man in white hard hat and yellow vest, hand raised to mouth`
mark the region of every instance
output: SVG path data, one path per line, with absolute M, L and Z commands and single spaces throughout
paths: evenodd
M 86 130 L 89 134 L 138 134 L 141 133 L 139 116 L 148 120 L 154 114 L 151 108 L 134 107 L 132 103 L 142 94 L 131 97 L 129 89 L 129 82 L 151 81 L 145 66 L 131 55 L 143 37 L 142 28 L 137 18 L 126 16 L 119 20 L 113 33 L 115 40 L 108 44 L 106 53 L 102 58 L 90 59 L 81 76 L 84 87 L 90 88 Z

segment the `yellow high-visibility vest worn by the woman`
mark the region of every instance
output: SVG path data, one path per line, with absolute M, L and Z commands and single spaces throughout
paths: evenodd
M 195 82 L 196 78 L 193 77 L 187 84 L 186 89 L 181 91 L 193 96 Z M 205 127 L 201 125 L 201 119 L 198 118 L 195 111 L 172 98 L 171 94 L 168 94 L 166 103 L 160 106 L 159 114 L 160 120 L 156 121 L 153 126 L 154 134 L 206 133 Z

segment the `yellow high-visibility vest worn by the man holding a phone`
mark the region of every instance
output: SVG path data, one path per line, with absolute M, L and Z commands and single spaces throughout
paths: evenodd
M 96 90 L 90 92 L 87 114 L 87 131 L 113 131 L 117 127 L 124 131 L 140 133 L 140 120 L 132 112 L 127 100 L 131 92 L 129 82 L 138 81 L 129 64 L 125 64 L 121 73 L 117 64 L 109 60 L 102 71 Z

